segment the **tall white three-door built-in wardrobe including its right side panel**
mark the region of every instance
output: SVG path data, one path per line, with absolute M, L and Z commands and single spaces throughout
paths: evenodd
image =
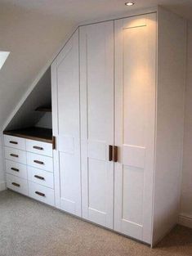
M 51 65 L 56 207 L 154 245 L 176 223 L 185 21 L 80 26 Z

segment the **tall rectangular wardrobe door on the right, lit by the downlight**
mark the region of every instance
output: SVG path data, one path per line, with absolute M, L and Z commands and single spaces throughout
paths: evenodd
M 156 16 L 115 21 L 114 230 L 151 242 Z

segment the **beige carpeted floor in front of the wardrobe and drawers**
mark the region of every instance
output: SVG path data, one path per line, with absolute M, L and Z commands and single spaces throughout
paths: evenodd
M 177 226 L 155 249 L 11 191 L 0 193 L 0 256 L 192 256 Z

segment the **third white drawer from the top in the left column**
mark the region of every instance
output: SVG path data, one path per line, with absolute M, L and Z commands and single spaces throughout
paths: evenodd
M 27 179 L 27 166 L 6 159 L 6 173 Z

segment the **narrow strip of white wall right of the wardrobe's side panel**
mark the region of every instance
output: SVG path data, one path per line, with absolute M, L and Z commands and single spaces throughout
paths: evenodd
M 192 227 L 192 23 L 188 25 L 185 132 L 180 223 Z

